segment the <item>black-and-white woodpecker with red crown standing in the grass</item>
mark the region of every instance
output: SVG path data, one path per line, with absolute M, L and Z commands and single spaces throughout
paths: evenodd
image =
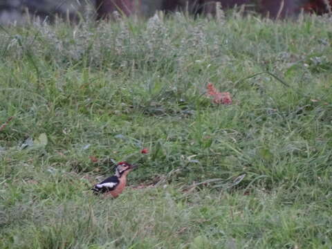
M 124 190 L 124 187 L 126 187 L 127 175 L 135 167 L 135 165 L 126 162 L 118 163 L 116 165 L 116 174 L 96 184 L 91 190 L 93 190 L 94 194 L 111 194 L 114 198 L 118 197 Z

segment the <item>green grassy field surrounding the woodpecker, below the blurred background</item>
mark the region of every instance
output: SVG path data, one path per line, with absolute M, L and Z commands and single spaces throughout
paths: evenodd
M 331 27 L 177 14 L 2 30 L 0 248 L 331 248 Z M 110 158 L 139 165 L 114 200 L 89 190 Z

